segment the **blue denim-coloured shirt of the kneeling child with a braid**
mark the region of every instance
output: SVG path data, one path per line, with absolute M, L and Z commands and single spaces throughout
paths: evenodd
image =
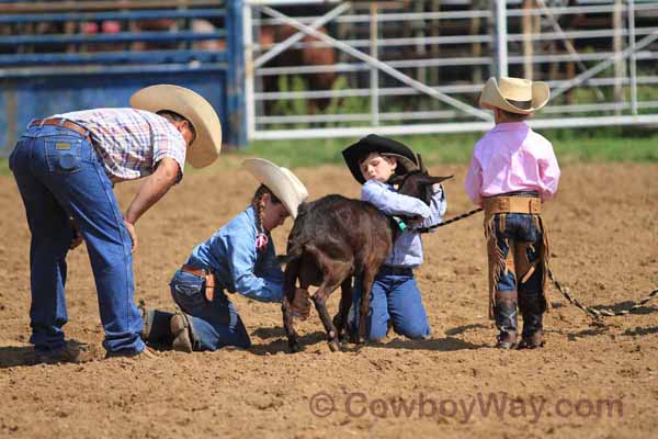
M 213 271 L 216 289 L 260 302 L 281 302 L 283 272 L 275 259 L 272 236 L 266 235 L 268 247 L 257 250 L 256 210 L 249 206 L 208 240 L 194 247 L 185 263 Z

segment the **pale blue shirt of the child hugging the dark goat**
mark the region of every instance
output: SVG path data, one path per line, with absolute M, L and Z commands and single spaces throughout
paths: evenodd
M 422 263 L 422 241 L 415 228 L 431 227 L 443 221 L 447 207 L 443 188 L 434 189 L 430 206 L 421 200 L 397 193 L 390 184 L 377 180 L 368 180 L 361 188 L 361 200 L 375 205 L 386 215 L 420 215 L 423 221 L 417 226 L 409 226 L 398 235 L 393 245 L 393 251 L 384 264 L 393 267 L 417 268 Z

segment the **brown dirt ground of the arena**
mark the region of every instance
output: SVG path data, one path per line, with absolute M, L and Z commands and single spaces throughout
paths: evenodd
M 235 159 L 234 159 L 235 160 Z M 445 184 L 447 217 L 472 206 L 464 166 Z M 297 169 L 310 199 L 358 196 L 342 167 Z M 622 309 L 658 286 L 657 165 L 568 165 L 546 205 L 551 266 L 583 303 Z M 256 181 L 237 166 L 190 173 L 137 225 L 136 300 L 172 309 L 168 282 L 193 246 L 247 206 Z M 117 187 L 122 206 L 136 185 Z M 546 346 L 492 348 L 481 216 L 423 238 L 417 271 L 433 335 L 330 352 L 314 312 L 304 352 L 285 353 L 281 311 L 234 295 L 253 347 L 157 359 L 102 359 L 84 247 L 69 254 L 67 337 L 84 364 L 26 365 L 30 233 L 15 184 L 0 177 L 0 437 L 656 438 L 658 300 L 594 324 L 554 289 Z M 284 249 L 288 222 L 275 230 Z M 332 312 L 338 293 L 331 297 Z

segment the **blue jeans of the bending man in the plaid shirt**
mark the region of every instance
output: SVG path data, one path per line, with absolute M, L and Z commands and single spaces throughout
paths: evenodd
M 133 301 L 132 241 L 93 146 L 59 127 L 29 128 L 9 158 L 32 233 L 30 341 L 38 353 L 64 349 L 66 256 L 72 217 L 84 241 L 95 281 L 103 347 L 116 353 L 144 350 L 141 318 Z

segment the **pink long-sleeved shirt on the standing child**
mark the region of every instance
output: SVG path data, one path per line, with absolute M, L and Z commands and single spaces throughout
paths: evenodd
M 500 123 L 475 144 L 464 187 L 470 200 L 506 192 L 537 191 L 542 201 L 557 192 L 559 167 L 553 145 L 525 122 Z

